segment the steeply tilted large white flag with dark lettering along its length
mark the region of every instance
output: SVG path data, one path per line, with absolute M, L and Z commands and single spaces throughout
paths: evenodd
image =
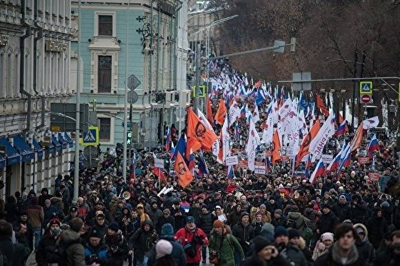
M 309 152 L 313 154 L 315 158 L 319 158 L 319 156 L 323 153 L 323 147 L 328 142 L 328 139 L 334 134 L 334 114 L 331 112 L 326 119 L 325 123 L 323 123 L 321 129 L 317 133 L 317 136 L 312 139 L 310 142 Z

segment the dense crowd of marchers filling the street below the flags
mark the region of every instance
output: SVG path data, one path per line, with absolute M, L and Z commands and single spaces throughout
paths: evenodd
M 232 147 L 243 149 L 246 118 L 238 120 Z M 0 200 L 0 265 L 25 265 L 28 256 L 39 266 L 400 265 L 399 165 L 391 149 L 383 138 L 374 156 L 374 170 L 389 179 L 379 190 L 357 155 L 340 175 L 311 183 L 285 162 L 268 174 L 239 167 L 230 174 L 211 152 L 206 173 L 203 154 L 194 154 L 194 180 L 182 187 L 173 171 L 154 171 L 154 156 L 172 170 L 166 147 L 136 151 L 125 181 L 118 145 L 97 167 L 80 165 L 78 195 L 71 171 L 40 193 Z

